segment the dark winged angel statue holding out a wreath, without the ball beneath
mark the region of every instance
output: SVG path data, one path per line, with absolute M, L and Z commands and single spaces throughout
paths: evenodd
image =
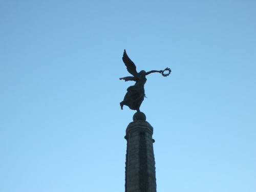
M 134 62 L 128 57 L 125 50 L 123 52 L 122 59 L 127 71 L 131 73 L 133 76 L 122 77 L 119 79 L 125 81 L 135 81 L 135 84 L 134 86 L 130 86 L 127 89 L 127 93 L 125 94 L 123 101 L 120 102 L 121 110 L 123 109 L 123 105 L 126 105 L 129 106 L 131 110 L 136 110 L 139 113 L 140 105 L 145 97 L 144 84 L 146 83 L 146 75 L 149 75 L 151 73 L 162 73 L 162 75 L 166 77 L 170 74 L 171 71 L 169 68 L 166 68 L 165 70 L 160 71 L 153 70 L 145 72 L 142 70 L 139 73 L 137 73 Z M 164 74 L 164 71 L 168 71 L 169 73 Z

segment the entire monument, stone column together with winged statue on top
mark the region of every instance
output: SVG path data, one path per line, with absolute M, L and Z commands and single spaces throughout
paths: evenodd
M 131 110 L 137 111 L 133 116 L 133 122 L 127 126 L 124 136 L 127 141 L 125 192 L 156 192 L 153 127 L 146 121 L 145 114 L 140 111 L 140 105 L 145 97 L 144 84 L 147 80 L 145 76 L 151 73 L 162 73 L 166 77 L 171 70 L 169 68 L 149 72 L 142 70 L 137 73 L 134 62 L 127 56 L 125 50 L 122 59 L 127 71 L 133 76 L 122 77 L 120 80 L 135 81 L 135 84 L 127 89 L 120 106 L 123 109 L 123 105 L 126 105 Z M 165 74 L 165 71 L 168 73 Z

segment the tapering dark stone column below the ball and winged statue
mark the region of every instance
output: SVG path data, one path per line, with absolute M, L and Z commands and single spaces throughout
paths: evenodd
M 153 127 L 135 120 L 126 129 L 125 192 L 156 192 Z

